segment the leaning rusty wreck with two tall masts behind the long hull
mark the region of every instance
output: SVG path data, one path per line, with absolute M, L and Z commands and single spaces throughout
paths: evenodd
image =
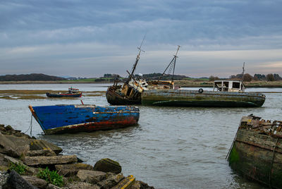
M 112 105 L 141 104 L 141 94 L 146 90 L 153 90 L 153 89 L 165 90 L 165 89 L 174 88 L 173 79 L 171 81 L 160 80 L 160 79 L 169 67 L 170 67 L 170 71 L 173 68 L 173 74 L 174 74 L 174 68 L 177 58 L 176 55 L 178 53 L 180 46 L 178 46 L 176 55 L 173 57 L 171 63 L 168 64 L 168 67 L 166 68 L 164 73 L 159 77 L 159 80 L 150 80 L 148 82 L 145 79 L 135 78 L 133 76 L 137 63 L 140 59 L 140 52 L 142 51 L 141 46 L 142 44 L 140 45 L 140 47 L 138 47 L 139 53 L 137 54 L 135 64 L 133 65 L 133 70 L 131 71 L 131 73 L 128 72 L 129 76 L 128 79 L 125 80 L 125 83 L 123 85 L 118 85 L 118 82 L 122 82 L 122 80 L 120 80 L 119 77 L 117 77 L 114 80 L 114 85 L 109 87 L 108 90 L 106 91 L 106 99 L 109 102 L 109 104 Z

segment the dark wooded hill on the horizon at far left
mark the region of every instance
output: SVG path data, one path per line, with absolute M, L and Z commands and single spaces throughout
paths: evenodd
M 0 75 L 0 81 L 24 81 L 24 80 L 66 80 L 65 78 L 45 75 L 42 73 L 20 74 L 20 75 Z

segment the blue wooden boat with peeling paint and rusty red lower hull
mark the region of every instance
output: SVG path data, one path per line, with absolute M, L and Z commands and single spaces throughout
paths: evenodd
M 124 128 L 139 120 L 139 109 L 135 106 L 78 104 L 29 106 L 29 109 L 46 135 Z

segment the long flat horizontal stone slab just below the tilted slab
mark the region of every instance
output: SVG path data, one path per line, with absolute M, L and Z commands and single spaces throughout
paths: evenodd
M 55 164 L 73 164 L 78 159 L 75 155 L 68 156 L 38 156 L 38 157 L 25 157 L 23 162 L 28 166 L 41 166 L 41 165 L 55 165 Z

